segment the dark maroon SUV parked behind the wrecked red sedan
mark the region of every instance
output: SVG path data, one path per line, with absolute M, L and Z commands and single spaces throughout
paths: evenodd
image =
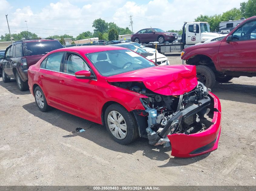
M 12 43 L 5 50 L 2 64 L 3 82 L 15 78 L 21 91 L 28 90 L 28 68 L 52 50 L 63 48 L 54 39 L 25 39 Z

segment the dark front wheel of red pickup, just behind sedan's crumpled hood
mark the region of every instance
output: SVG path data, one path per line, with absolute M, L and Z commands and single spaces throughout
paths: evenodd
M 207 88 L 212 88 L 215 84 L 215 75 L 208 66 L 197 66 L 196 77 L 198 81 L 202 82 Z

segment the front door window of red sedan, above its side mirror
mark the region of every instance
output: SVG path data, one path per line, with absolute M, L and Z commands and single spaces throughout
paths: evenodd
M 90 68 L 80 56 L 67 53 L 66 59 L 64 61 L 64 72 L 67 74 L 75 75 L 75 72 L 81 70 L 90 71 Z

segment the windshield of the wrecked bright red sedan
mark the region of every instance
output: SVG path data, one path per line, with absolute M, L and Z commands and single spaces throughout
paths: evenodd
M 154 63 L 131 50 L 108 50 L 85 54 L 85 56 L 103 76 L 112 76 L 155 66 Z

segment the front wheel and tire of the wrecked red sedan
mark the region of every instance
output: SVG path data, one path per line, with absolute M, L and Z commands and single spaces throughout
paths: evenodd
M 105 126 L 111 137 L 122 145 L 128 145 L 138 137 L 134 117 L 123 106 L 112 104 L 105 111 Z

